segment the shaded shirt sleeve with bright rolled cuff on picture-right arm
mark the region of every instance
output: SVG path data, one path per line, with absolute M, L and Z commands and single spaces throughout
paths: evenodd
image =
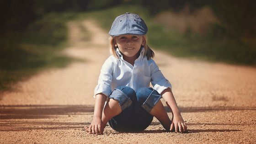
M 165 76 L 162 74 L 157 64 L 155 64 L 155 61 L 153 59 L 149 61 L 151 70 L 151 84 L 154 86 L 154 89 L 161 94 L 168 87 L 172 88 L 171 83 L 169 80 L 165 79 Z

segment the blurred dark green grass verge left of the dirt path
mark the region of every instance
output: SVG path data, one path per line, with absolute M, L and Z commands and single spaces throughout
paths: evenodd
M 49 13 L 32 22 L 25 30 L 0 38 L 0 90 L 6 91 L 19 80 L 27 80 L 46 68 L 63 68 L 81 61 L 61 54 L 72 12 Z

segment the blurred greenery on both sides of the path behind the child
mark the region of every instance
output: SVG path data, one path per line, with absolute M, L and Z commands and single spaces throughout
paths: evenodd
M 1 0 L 0 90 L 49 67 L 77 60 L 68 21 L 96 19 L 109 31 L 116 16 L 141 16 L 149 47 L 176 57 L 256 65 L 255 0 Z M 86 30 L 84 31 L 86 33 Z

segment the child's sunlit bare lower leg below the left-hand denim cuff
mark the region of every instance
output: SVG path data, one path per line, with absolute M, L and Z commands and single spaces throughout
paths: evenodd
M 120 114 L 122 112 L 122 109 L 119 105 L 119 102 L 115 99 L 109 99 L 103 112 L 102 112 L 102 123 L 103 123 L 103 128 L 106 127 L 107 122 L 112 118 L 115 117 L 116 115 Z

